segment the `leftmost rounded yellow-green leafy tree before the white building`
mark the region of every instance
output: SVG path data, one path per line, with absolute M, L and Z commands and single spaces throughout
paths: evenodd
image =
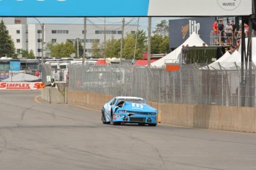
M 53 44 L 50 51 L 50 55 L 55 58 L 70 58 L 72 53 L 76 53 L 76 50 L 70 41 L 66 41 L 65 44 Z

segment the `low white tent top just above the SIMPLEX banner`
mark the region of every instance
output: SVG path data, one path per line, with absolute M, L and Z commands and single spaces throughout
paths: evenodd
M 12 77 L 4 79 L 3 81 L 5 81 L 5 82 L 29 82 L 29 81 L 41 81 L 41 78 L 34 76 L 34 75 L 19 73 L 17 75 L 13 75 Z

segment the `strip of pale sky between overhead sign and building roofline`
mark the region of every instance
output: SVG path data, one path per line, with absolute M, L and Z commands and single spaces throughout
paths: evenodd
M 122 24 L 123 17 L 108 17 L 108 18 L 100 18 L 100 17 L 94 17 L 94 18 L 87 18 L 87 24 Z M 171 20 L 171 19 L 178 19 L 178 17 L 152 17 L 151 18 L 151 32 L 154 31 L 157 24 L 160 24 L 162 20 Z M 27 18 L 28 24 L 39 24 L 45 23 L 45 24 L 83 24 L 84 18 L 83 17 L 70 17 L 70 18 Z M 137 17 L 126 17 L 125 18 L 125 24 L 135 24 L 137 25 L 138 18 Z M 148 17 L 140 17 L 139 20 L 139 29 L 145 30 L 147 32 L 148 30 Z

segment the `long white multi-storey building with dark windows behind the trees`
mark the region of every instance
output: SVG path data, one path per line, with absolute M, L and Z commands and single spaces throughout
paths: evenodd
M 2 19 L 2 18 L 0 18 Z M 16 47 L 16 51 L 33 50 L 36 57 L 42 57 L 42 24 L 27 24 L 24 18 L 3 18 L 10 36 Z M 106 30 L 106 34 L 105 31 Z M 136 33 L 136 25 L 125 26 L 126 33 Z M 86 25 L 86 56 L 91 56 L 91 45 L 93 41 L 102 44 L 112 36 L 115 39 L 122 38 L 121 24 L 87 24 Z M 44 24 L 44 42 L 65 43 L 67 40 L 73 43 L 79 38 L 84 43 L 84 24 Z M 46 52 L 44 52 L 45 56 Z M 70 57 L 70 56 L 67 56 Z

